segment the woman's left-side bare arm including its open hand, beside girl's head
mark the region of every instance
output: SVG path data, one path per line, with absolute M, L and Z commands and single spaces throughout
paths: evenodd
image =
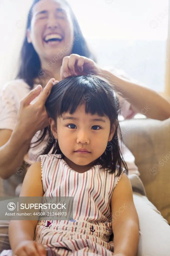
M 21 166 L 34 134 L 49 125 L 45 101 L 50 94 L 55 79 L 50 79 L 40 98 L 30 104 L 41 92 L 32 90 L 20 103 L 13 132 L 0 130 L 0 177 L 8 179 Z M 57 81 L 55 81 L 56 83 Z M 0 126 L 1 129 L 1 126 Z M 4 138 L 4 135 L 6 138 Z M 11 135 L 11 136 L 10 136 Z

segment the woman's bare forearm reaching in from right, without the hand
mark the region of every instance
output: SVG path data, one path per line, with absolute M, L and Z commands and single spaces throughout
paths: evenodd
M 136 112 L 157 120 L 170 117 L 170 103 L 155 91 L 117 77 L 107 70 L 102 71 L 102 76 L 113 84 L 114 89 L 121 93 Z

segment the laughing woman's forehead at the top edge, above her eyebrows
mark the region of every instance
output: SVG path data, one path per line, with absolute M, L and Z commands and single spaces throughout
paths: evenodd
M 36 3 L 33 6 L 32 12 L 33 14 L 37 14 L 42 11 L 48 11 L 51 9 L 54 10 L 57 8 L 66 10 L 67 9 L 66 3 L 61 0 L 40 0 L 38 3 Z

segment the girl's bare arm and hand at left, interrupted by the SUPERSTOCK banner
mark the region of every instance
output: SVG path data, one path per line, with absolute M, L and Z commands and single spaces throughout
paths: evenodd
M 20 196 L 43 196 L 43 187 L 41 182 L 41 162 L 36 162 L 30 166 L 24 178 Z M 37 220 L 11 220 L 9 223 L 9 241 L 14 255 L 21 255 L 28 248 L 36 250 L 32 255 L 43 255 L 42 246 L 37 248 L 34 238 L 34 230 Z M 31 243 L 30 243 L 31 242 Z M 42 248 L 41 253 L 38 251 Z M 45 254 L 46 255 L 46 254 Z

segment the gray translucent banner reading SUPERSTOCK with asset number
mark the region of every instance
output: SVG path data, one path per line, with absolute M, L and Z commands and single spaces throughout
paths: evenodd
M 0 197 L 0 220 L 72 220 L 73 197 Z

